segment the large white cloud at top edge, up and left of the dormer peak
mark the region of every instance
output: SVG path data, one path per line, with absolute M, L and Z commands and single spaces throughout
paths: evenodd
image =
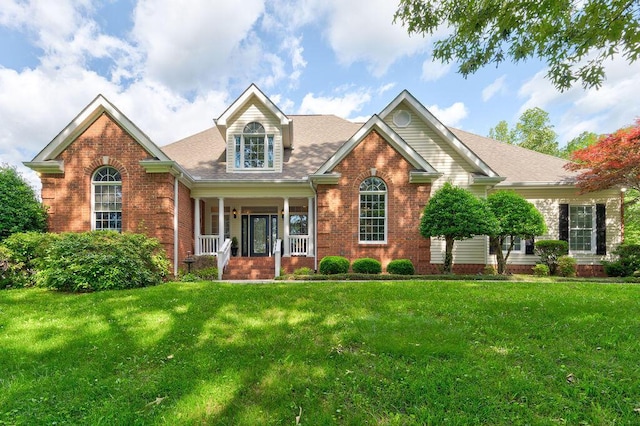
M 259 40 L 251 32 L 263 12 L 263 0 L 192 0 L 188 5 L 141 0 L 132 34 L 146 54 L 146 74 L 174 90 L 189 91 L 260 64 L 260 57 L 243 58 L 247 50 L 262 51 L 254 49 Z

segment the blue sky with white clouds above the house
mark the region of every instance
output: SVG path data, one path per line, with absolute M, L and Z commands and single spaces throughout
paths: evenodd
M 31 160 L 98 93 L 158 145 L 213 125 L 251 83 L 287 114 L 363 120 L 409 90 L 480 135 L 527 108 L 561 144 L 640 116 L 640 64 L 616 58 L 600 90 L 558 93 L 539 61 L 467 79 L 433 38 L 392 23 L 396 0 L 0 0 L 0 162 Z M 436 37 L 442 34 L 436 35 Z

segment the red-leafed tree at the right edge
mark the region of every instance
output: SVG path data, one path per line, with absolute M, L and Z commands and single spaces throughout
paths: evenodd
M 583 192 L 616 186 L 640 191 L 640 119 L 634 126 L 602 136 L 596 144 L 574 151 L 571 159 L 573 162 L 565 167 L 581 172 L 576 183 Z

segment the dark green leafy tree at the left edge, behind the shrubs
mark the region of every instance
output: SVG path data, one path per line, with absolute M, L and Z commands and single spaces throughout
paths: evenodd
M 14 167 L 0 165 L 0 241 L 16 232 L 44 231 L 47 213 Z

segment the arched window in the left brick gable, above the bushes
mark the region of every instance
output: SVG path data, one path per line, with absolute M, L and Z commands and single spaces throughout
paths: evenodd
M 122 232 L 122 178 L 113 167 L 101 167 L 91 179 L 93 229 Z

